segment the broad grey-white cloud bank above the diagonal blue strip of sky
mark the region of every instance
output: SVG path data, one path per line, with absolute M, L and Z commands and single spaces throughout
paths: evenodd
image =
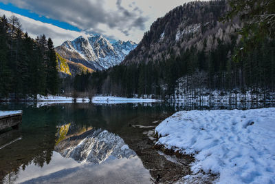
M 190 0 L 0 0 L 85 32 L 139 42 L 151 23 Z

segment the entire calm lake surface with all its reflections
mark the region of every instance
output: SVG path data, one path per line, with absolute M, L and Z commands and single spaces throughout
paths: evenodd
M 137 154 L 142 132 L 177 110 L 248 109 L 274 104 L 1 104 L 23 110 L 19 130 L 0 132 L 2 183 L 151 183 Z

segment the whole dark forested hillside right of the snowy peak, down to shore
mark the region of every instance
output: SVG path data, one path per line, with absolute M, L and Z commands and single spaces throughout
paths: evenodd
M 223 0 L 171 10 L 151 25 L 121 65 L 95 72 L 92 85 L 98 93 L 122 96 L 274 92 L 274 39 L 266 34 L 236 57 L 249 39 L 240 31 L 251 20 L 225 19 L 231 10 Z

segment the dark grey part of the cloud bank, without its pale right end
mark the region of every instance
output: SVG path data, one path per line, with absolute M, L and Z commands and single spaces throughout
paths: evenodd
M 6 0 L 0 1 L 5 2 Z M 144 30 L 148 20 L 147 17 L 142 17 L 142 10 L 135 6 L 135 2 L 130 4 L 133 10 L 129 11 L 122 6 L 122 0 L 116 1 L 115 5 L 118 8 L 116 11 L 108 11 L 107 3 L 104 3 L 103 0 L 9 0 L 8 2 L 19 8 L 50 17 L 50 19 L 70 23 L 80 30 L 100 31 L 98 25 L 104 24 L 108 28 L 120 30 L 126 36 L 129 35 L 129 31 L 124 32 L 123 30 L 136 28 Z M 127 7 L 129 6 L 127 5 Z

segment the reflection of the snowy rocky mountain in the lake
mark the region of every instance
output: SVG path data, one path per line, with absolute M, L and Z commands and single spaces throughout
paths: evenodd
M 100 164 L 107 159 L 129 159 L 136 155 L 119 136 L 101 129 L 92 129 L 60 141 L 54 150 L 79 163 Z

